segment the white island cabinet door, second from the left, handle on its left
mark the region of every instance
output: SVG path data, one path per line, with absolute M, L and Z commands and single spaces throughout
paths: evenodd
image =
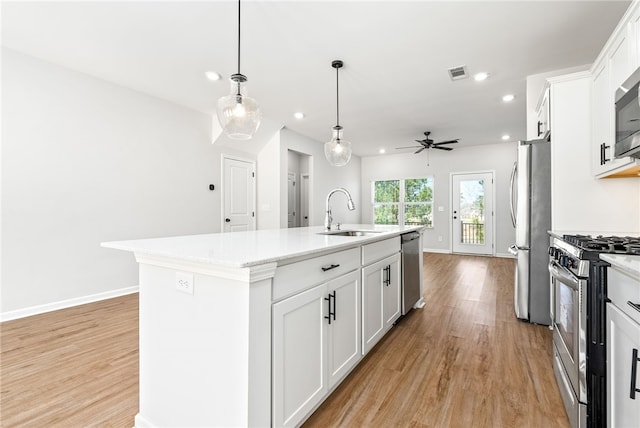
M 328 333 L 329 388 L 360 360 L 360 270 L 327 283 L 332 314 Z

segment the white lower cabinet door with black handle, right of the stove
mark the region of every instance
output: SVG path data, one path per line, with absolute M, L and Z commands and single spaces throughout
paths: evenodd
M 635 354 L 634 354 L 635 350 Z M 633 427 L 640 421 L 640 325 L 607 304 L 607 414 L 609 427 Z M 636 358 L 633 361 L 633 358 Z M 634 370 L 635 367 L 635 370 Z M 632 378 L 632 371 L 635 379 Z M 631 398 L 635 395 L 635 398 Z

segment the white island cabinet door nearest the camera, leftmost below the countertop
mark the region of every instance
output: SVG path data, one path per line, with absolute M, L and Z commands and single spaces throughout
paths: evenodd
M 273 305 L 273 425 L 298 425 L 328 391 L 325 284 Z

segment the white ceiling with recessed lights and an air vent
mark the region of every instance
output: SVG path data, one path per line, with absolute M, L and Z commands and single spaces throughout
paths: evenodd
M 395 147 L 426 130 L 458 146 L 523 139 L 526 76 L 592 63 L 628 5 L 245 1 L 241 71 L 265 117 L 322 142 L 342 59 L 340 122 L 361 156 L 410 152 Z M 212 114 L 236 72 L 236 32 L 235 1 L 2 2 L 4 46 Z M 452 82 L 447 68 L 463 64 L 491 76 Z

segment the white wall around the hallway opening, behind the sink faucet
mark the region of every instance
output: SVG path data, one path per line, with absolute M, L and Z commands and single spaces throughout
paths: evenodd
M 329 131 L 327 131 L 327 134 Z M 329 165 L 324 156 L 324 143 L 300 135 L 290 129 L 283 128 L 280 131 L 280 159 L 283 165 L 280 169 L 280 194 L 281 212 L 287 212 L 287 168 L 288 151 L 311 156 L 310 174 L 310 207 L 309 226 L 320 226 L 324 223 L 325 201 L 327 194 L 336 187 L 344 187 L 349 191 L 356 204 L 354 211 L 347 209 L 347 199 L 343 194 L 336 194 L 331 198 L 331 210 L 334 223 L 360 223 L 362 207 L 357 201 L 361 199 L 360 192 L 360 165 L 358 156 L 351 156 L 351 160 L 345 166 L 337 167 Z M 281 216 L 281 227 L 287 227 L 286 215 Z

